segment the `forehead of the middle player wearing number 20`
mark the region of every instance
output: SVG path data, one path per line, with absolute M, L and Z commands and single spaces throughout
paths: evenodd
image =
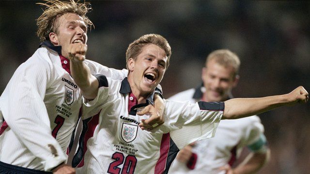
M 166 58 L 167 59 L 167 55 L 164 49 L 162 49 L 161 47 L 151 43 L 151 44 L 147 44 L 145 46 L 142 47 L 139 56 L 153 56 L 156 58 Z

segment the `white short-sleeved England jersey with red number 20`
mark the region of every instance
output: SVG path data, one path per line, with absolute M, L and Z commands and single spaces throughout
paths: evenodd
M 146 103 L 137 104 L 127 78 L 116 81 L 100 76 L 98 79 L 102 87 L 97 97 L 84 101 L 86 119 L 72 162 L 79 174 L 162 174 L 170 147 L 170 132 L 187 125 L 192 130 L 175 139 L 189 143 L 197 140 L 198 134 L 209 138 L 214 136 L 223 115 L 223 102 L 193 104 L 166 100 L 165 123 L 152 131 L 142 131 L 138 124 L 149 116 L 138 116 L 136 112 L 153 103 L 154 93 Z

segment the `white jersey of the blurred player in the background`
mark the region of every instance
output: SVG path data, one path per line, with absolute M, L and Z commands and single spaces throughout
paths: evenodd
M 196 102 L 201 99 L 201 91 L 189 89 L 172 96 L 171 100 Z M 195 93 L 195 94 L 194 94 Z M 195 98 L 193 98 L 195 96 Z M 240 155 L 243 147 L 259 151 L 265 148 L 263 125 L 258 116 L 250 116 L 235 120 L 221 120 L 215 137 L 197 141 L 193 153 L 197 155 L 195 168 L 190 170 L 186 164 L 174 160 L 170 174 L 225 174 L 218 168 L 226 164 L 232 165 Z

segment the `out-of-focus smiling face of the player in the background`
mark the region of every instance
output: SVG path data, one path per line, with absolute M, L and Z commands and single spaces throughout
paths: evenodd
M 233 67 L 224 67 L 214 59 L 210 60 L 207 67 L 202 70 L 202 81 L 206 88 L 203 100 L 206 102 L 227 100 L 232 88 L 237 84 L 233 74 Z

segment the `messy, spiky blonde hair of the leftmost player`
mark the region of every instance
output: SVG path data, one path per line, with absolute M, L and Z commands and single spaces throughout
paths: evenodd
M 91 29 L 93 22 L 86 16 L 92 10 L 90 3 L 78 3 L 74 0 L 60 1 L 60 0 L 45 0 L 46 3 L 36 3 L 46 6 L 43 14 L 37 19 L 37 36 L 41 42 L 49 40 L 49 33 L 57 33 L 58 25 L 57 19 L 66 13 L 75 13 L 81 16 L 88 29 Z M 94 26 L 93 26 L 94 27 Z

